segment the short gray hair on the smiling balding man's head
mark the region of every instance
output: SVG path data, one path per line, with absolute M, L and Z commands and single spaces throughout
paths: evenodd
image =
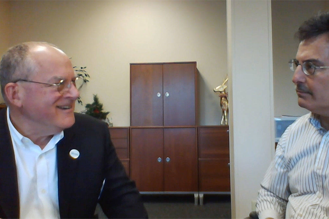
M 25 42 L 9 48 L 2 56 L 0 62 L 0 85 L 3 98 L 7 101 L 5 94 L 6 84 L 17 79 L 28 79 L 37 71 L 34 60 L 30 57 L 29 50 L 36 45 L 47 45 L 57 48 L 47 42 Z

